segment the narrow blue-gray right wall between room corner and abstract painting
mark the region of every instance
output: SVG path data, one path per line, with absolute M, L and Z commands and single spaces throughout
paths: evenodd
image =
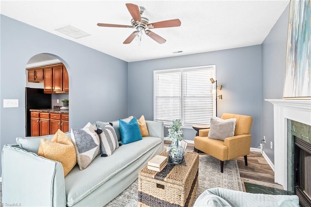
M 282 99 L 286 61 L 287 30 L 289 6 L 277 20 L 269 35 L 262 43 L 262 129 L 261 138 L 265 154 L 274 163 L 274 147 L 270 149 L 270 142 L 274 143 L 273 104 L 264 99 Z

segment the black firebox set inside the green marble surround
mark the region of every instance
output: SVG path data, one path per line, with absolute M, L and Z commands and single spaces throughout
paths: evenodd
M 311 207 L 311 143 L 294 136 L 294 192 L 300 205 Z

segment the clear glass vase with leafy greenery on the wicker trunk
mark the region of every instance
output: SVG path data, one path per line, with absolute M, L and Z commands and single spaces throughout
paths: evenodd
M 173 164 L 180 164 L 184 158 L 184 149 L 179 145 L 179 142 L 183 140 L 184 137 L 180 119 L 173 121 L 168 132 L 169 139 L 172 140 L 172 143 L 166 151 L 169 152 L 169 159 Z

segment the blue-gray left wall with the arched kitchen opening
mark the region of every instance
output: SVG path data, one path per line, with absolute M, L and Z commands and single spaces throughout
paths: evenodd
M 68 70 L 70 127 L 127 116 L 127 62 L 3 15 L 0 29 L 1 149 L 25 136 L 25 67 L 35 54 L 55 54 Z M 3 108 L 3 99 L 19 107 Z

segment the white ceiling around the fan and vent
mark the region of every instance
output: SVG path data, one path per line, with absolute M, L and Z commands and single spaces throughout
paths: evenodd
M 167 41 L 150 37 L 122 42 L 135 29 L 99 27 L 131 25 L 125 3 L 144 6 L 149 22 L 179 18 L 180 27 L 151 29 Z M 261 44 L 289 0 L 1 0 L 1 14 L 127 62 L 209 52 Z M 72 25 L 90 34 L 75 39 L 56 28 Z M 178 54 L 173 52 L 183 51 Z

